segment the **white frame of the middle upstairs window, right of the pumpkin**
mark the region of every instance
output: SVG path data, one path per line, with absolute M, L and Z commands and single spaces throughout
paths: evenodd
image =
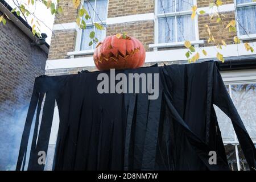
M 164 0 L 163 0 L 164 1 Z M 196 5 L 196 0 L 193 0 L 193 5 Z M 176 9 L 176 3 L 175 3 L 175 9 Z M 175 16 L 175 28 L 177 32 L 177 18 L 176 16 L 179 15 L 191 15 L 192 10 L 187 11 L 178 11 L 178 12 L 172 12 L 172 13 L 166 13 L 167 17 Z M 182 47 L 184 46 L 184 42 L 177 42 L 177 35 L 175 37 L 176 41 L 171 43 L 159 43 L 158 40 L 158 18 L 165 17 L 164 14 L 158 14 L 158 0 L 155 0 L 155 17 L 154 17 L 154 44 L 150 44 L 149 48 L 154 48 L 154 51 L 157 51 L 157 48 L 163 48 L 163 47 Z M 199 40 L 199 27 L 198 27 L 198 17 L 197 14 L 194 19 L 195 24 L 195 40 L 191 41 L 191 44 L 198 45 L 203 44 L 204 40 Z

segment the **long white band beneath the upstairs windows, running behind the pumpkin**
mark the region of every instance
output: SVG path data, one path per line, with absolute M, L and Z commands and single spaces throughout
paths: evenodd
M 256 42 L 250 43 L 251 47 L 256 49 Z M 202 50 L 207 51 L 207 56 L 201 53 Z M 185 53 L 188 49 L 172 49 L 165 51 L 151 51 L 146 52 L 146 63 L 161 62 L 161 61 L 183 61 L 187 60 Z M 241 44 L 231 44 L 223 46 L 222 49 L 216 49 L 216 46 L 199 47 L 196 51 L 200 52 L 200 59 L 216 59 L 217 51 L 226 57 L 240 57 L 253 56 L 256 59 L 256 52 L 246 51 L 245 46 Z M 93 56 L 78 57 L 72 59 L 47 60 L 47 69 L 61 69 L 61 68 L 79 68 L 79 67 L 94 67 Z

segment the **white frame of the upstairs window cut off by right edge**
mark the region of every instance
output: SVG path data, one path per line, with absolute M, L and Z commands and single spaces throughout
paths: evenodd
M 235 16 L 236 16 L 238 38 L 240 38 L 241 40 L 256 39 L 256 34 L 248 34 L 249 36 L 248 35 L 240 35 L 240 27 L 239 27 L 239 23 L 237 21 L 238 20 L 237 9 L 240 7 L 256 6 L 256 2 L 246 2 L 246 3 L 237 4 L 237 0 L 234 0 L 234 6 L 236 7 Z

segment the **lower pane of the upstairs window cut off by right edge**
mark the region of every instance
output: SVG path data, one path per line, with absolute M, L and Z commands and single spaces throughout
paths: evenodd
M 237 18 L 241 35 L 256 34 L 256 6 L 238 8 Z

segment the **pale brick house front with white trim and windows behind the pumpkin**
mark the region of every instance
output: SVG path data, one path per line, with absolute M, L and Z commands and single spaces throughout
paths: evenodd
M 53 26 L 51 48 L 46 64 L 46 75 L 76 74 L 82 69 L 95 71 L 93 51 L 95 44 L 89 46 L 89 32 L 96 31 L 96 37 L 103 40 L 105 36 L 126 32 L 138 38 L 146 49 L 146 63 L 151 65 L 187 63 L 184 41 L 190 40 L 200 53 L 200 60 L 216 60 L 216 46 L 224 40 L 226 46 L 218 49 L 226 62 L 256 61 L 256 2 L 252 0 L 223 0 L 219 7 L 209 7 L 212 0 L 84 0 L 81 3 L 92 17 L 86 22 L 86 29 L 81 30 L 76 24 L 78 12 L 72 1 L 60 0 L 63 14 L 56 15 Z M 191 7 L 197 6 L 195 19 L 191 19 Z M 204 14 L 200 11 L 204 10 Z M 236 20 L 236 32 L 229 32 L 223 24 L 212 20 L 210 15 L 220 12 L 221 21 L 226 25 Z M 106 27 L 98 31 L 93 23 Z M 205 24 L 210 26 L 215 42 L 208 43 Z M 241 40 L 234 43 L 234 36 Z M 250 43 L 254 52 L 246 51 L 244 43 Z M 238 69 L 221 72 L 228 92 L 237 107 L 246 129 L 256 144 L 256 69 Z M 234 134 L 229 118 L 217 107 L 222 138 L 230 167 L 233 170 L 248 169 L 240 145 Z

